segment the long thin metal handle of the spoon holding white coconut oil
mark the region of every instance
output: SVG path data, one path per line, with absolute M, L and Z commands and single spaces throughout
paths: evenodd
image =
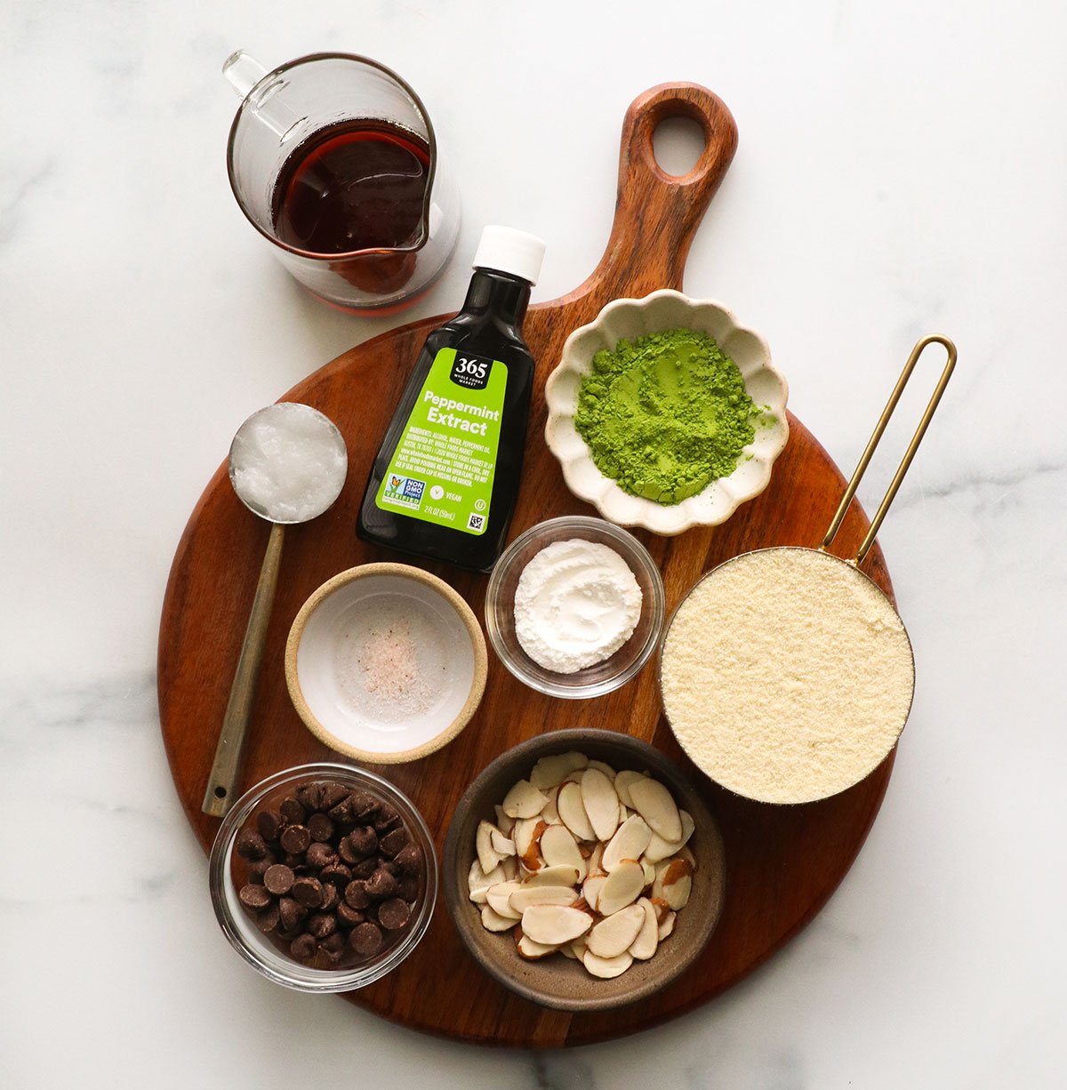
M 275 523 L 270 528 L 267 553 L 259 569 L 256 596 L 248 616 L 248 627 L 244 631 L 241 657 L 230 688 L 230 699 L 222 717 L 222 732 L 215 749 L 215 762 L 207 779 L 204 802 L 201 809 L 214 818 L 221 818 L 233 804 L 244 758 L 244 743 L 248 734 L 252 702 L 256 694 L 256 681 L 263 665 L 263 652 L 267 644 L 267 626 L 275 604 L 278 586 L 278 570 L 281 567 L 281 545 L 286 528 Z

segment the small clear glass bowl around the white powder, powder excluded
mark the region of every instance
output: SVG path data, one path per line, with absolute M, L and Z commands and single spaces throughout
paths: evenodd
M 514 626 L 514 594 L 526 565 L 546 545 L 573 538 L 614 549 L 641 588 L 641 616 L 633 634 L 610 658 L 573 674 L 557 674 L 535 663 L 522 650 Z M 652 656 L 664 622 L 663 577 L 648 550 L 620 526 L 584 514 L 566 514 L 538 522 L 520 534 L 497 560 L 485 592 L 485 629 L 500 662 L 522 682 L 565 700 L 587 700 L 618 689 L 636 676 Z

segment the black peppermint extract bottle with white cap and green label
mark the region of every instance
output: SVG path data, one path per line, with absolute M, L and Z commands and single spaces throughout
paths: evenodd
M 534 362 L 522 320 L 545 244 L 486 227 L 463 308 L 423 346 L 386 431 L 356 532 L 488 571 L 519 495 Z

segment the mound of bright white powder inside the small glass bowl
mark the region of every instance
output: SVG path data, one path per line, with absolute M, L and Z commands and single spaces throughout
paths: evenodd
M 615 549 L 580 538 L 553 542 L 519 577 L 516 637 L 546 670 L 575 674 L 610 658 L 630 639 L 641 597 Z

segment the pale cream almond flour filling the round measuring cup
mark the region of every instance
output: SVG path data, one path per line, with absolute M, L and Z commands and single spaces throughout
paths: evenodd
M 699 582 L 664 640 L 660 685 L 682 748 L 745 798 L 811 802 L 896 744 L 911 643 L 856 567 L 803 548 L 744 554 Z

